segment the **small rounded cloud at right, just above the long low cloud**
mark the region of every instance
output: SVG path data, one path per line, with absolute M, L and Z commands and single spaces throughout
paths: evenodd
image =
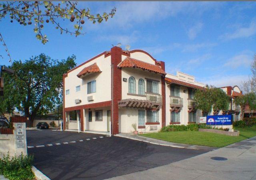
M 231 67 L 236 69 L 241 66 L 250 66 L 250 62 L 252 61 L 252 57 L 248 54 L 239 54 L 232 58 L 230 58 L 225 64 L 224 67 Z

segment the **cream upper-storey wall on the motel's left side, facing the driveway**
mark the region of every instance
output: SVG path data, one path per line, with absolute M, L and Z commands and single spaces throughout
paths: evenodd
M 102 72 L 90 74 L 83 79 L 76 75 L 85 67 L 92 64 L 98 65 Z M 96 80 L 96 92 L 87 94 L 87 83 Z M 76 92 L 76 86 L 80 85 L 80 91 Z M 70 90 L 70 94 L 66 95 L 66 90 Z M 93 96 L 93 101 L 88 101 L 87 97 Z M 75 103 L 75 99 L 80 99 L 82 102 Z M 111 57 L 104 58 L 104 54 L 83 66 L 68 73 L 65 78 L 65 108 L 72 106 L 80 106 L 84 104 L 91 104 L 96 102 L 104 102 L 111 100 Z

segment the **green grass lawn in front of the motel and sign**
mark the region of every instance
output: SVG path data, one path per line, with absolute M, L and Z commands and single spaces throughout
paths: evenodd
M 236 130 L 240 131 L 239 136 L 227 136 L 223 134 L 199 131 L 155 132 L 141 134 L 141 136 L 169 142 L 212 147 L 224 147 L 256 136 L 256 125 L 250 128 L 236 128 Z

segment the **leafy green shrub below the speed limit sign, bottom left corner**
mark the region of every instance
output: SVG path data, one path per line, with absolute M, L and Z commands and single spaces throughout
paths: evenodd
M 0 174 L 10 180 L 33 179 L 35 178 L 31 169 L 33 159 L 33 156 L 23 154 L 10 158 L 8 153 L 0 159 Z

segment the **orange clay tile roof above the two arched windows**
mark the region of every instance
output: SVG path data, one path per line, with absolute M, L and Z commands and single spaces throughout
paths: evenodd
M 152 72 L 160 73 L 160 74 L 166 74 L 164 70 L 160 66 L 154 65 L 154 64 L 149 64 L 147 62 L 143 62 L 140 60 L 136 60 L 134 58 L 126 57 L 120 64 L 120 68 L 124 67 L 130 67 L 130 68 L 140 68 L 143 70 L 149 70 Z

